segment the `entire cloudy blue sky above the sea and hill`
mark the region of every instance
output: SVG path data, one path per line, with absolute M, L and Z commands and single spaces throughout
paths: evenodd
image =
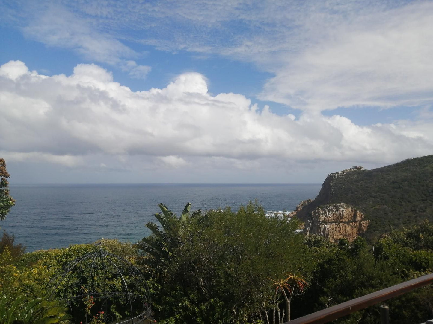
M 433 2 L 0 0 L 10 183 L 320 183 L 433 154 Z

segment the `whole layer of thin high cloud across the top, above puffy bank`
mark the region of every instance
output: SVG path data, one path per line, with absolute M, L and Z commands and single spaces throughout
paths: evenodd
M 275 73 L 259 98 L 302 110 L 432 102 L 431 2 L 92 1 L 50 5 L 23 30 L 132 77 L 150 67 L 123 40 L 246 60 Z

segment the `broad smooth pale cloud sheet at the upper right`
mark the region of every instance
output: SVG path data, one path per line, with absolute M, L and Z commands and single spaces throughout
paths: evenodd
M 302 110 L 433 103 L 433 3 L 360 17 L 336 27 L 268 80 L 261 98 Z

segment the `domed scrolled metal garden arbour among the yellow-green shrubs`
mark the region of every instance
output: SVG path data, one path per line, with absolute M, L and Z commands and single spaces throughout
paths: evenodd
M 123 257 L 98 248 L 63 269 L 52 280 L 52 297 L 68 304 L 76 323 L 132 324 L 152 318 L 145 278 Z

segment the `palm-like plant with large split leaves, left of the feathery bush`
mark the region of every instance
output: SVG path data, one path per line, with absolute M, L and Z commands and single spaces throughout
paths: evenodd
M 152 234 L 142 238 L 141 242 L 133 245 L 146 253 L 142 262 L 153 276 L 165 276 L 173 267 L 175 250 L 181 245 L 181 237 L 191 230 L 193 223 L 199 224 L 206 216 L 197 210 L 190 216 L 191 203 L 187 203 L 182 214 L 177 218 L 167 206 L 160 203 L 162 213 L 156 213 L 155 218 L 161 224 L 161 228 L 155 222 L 148 222 L 146 227 Z

